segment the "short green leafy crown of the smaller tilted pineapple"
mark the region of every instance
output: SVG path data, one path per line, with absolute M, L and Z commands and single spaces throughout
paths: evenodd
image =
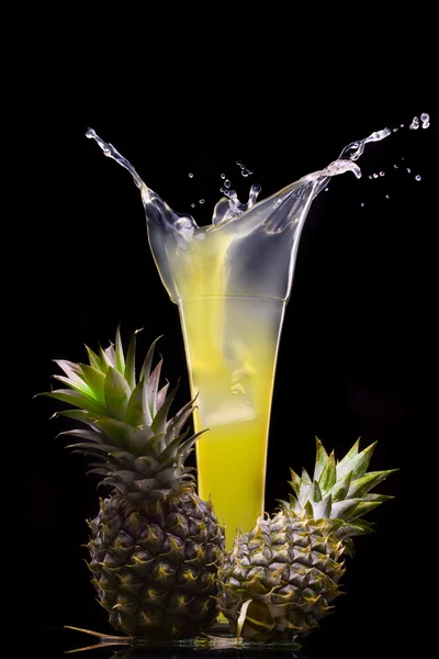
M 291 470 L 289 484 L 294 494 L 290 494 L 289 502 L 282 501 L 281 506 L 296 514 L 305 513 L 314 520 L 330 520 L 342 538 L 372 533 L 371 524 L 362 516 L 393 496 L 372 494 L 370 490 L 396 469 L 368 472 L 376 442 L 359 453 L 358 439 L 340 461 L 336 461 L 334 451 L 330 455 L 326 453 L 318 438 L 316 444 L 313 479 L 305 469 L 302 476 Z

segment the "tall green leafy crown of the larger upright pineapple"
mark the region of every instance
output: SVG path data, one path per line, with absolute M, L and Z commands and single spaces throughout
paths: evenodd
M 162 359 L 151 371 L 157 340 L 151 344 L 137 380 L 136 333 L 125 357 L 117 327 L 115 345 L 110 343 L 106 349 L 100 346 L 99 354 L 86 346 L 88 365 L 56 359 L 65 376 L 54 378 L 68 389 L 43 394 L 78 407 L 55 416 L 74 418 L 87 427 L 60 435 L 80 439 L 68 448 L 97 460 L 89 473 L 104 476 L 102 483 L 132 500 L 162 499 L 193 480 L 184 461 L 201 435 L 188 437 L 189 431 L 181 434 L 194 409 L 193 401 L 167 418 L 178 384 L 169 394 L 169 383 L 159 389 Z

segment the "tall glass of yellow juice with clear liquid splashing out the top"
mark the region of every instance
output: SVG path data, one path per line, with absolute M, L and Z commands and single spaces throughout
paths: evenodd
M 87 132 L 140 190 L 153 255 L 180 311 L 191 391 L 199 394 L 195 432 L 210 428 L 196 443 L 199 495 L 212 496 L 227 548 L 237 528 L 250 530 L 263 513 L 277 354 L 311 203 L 330 177 L 349 170 L 360 177 L 354 160 L 364 145 L 390 134 L 385 129 L 353 142 L 325 169 L 258 203 L 259 186 L 247 203 L 227 191 L 212 224 L 200 227 L 175 213 L 111 144 Z

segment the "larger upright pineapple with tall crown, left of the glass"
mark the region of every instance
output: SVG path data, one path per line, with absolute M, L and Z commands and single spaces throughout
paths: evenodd
M 155 342 L 156 343 L 156 342 Z M 194 491 L 184 467 L 198 436 L 181 428 L 193 411 L 185 404 L 170 421 L 177 388 L 158 389 L 160 361 L 150 372 L 151 345 L 138 381 L 136 336 L 124 357 L 117 330 L 90 365 L 57 360 L 69 387 L 47 395 L 79 410 L 58 412 L 86 424 L 71 429 L 76 451 L 97 460 L 91 472 L 113 491 L 89 522 L 90 570 L 110 623 L 145 639 L 187 638 L 216 619 L 215 578 L 224 533 L 212 503 Z

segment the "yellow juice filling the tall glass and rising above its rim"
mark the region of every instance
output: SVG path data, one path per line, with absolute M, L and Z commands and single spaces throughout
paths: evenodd
M 225 295 L 233 236 L 207 233 L 179 254 L 173 272 L 181 298 L 195 431 L 199 495 L 212 498 L 226 526 L 250 530 L 263 513 L 268 429 L 284 302 Z

